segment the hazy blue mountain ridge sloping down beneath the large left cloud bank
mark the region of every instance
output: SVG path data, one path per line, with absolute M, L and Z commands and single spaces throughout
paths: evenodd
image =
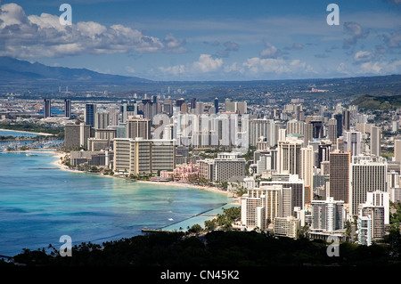
M 140 77 L 125 77 L 102 74 L 89 69 L 51 67 L 29 61 L 20 61 L 8 56 L 0 56 L 0 82 L 27 82 L 37 80 L 148 83 L 151 80 Z

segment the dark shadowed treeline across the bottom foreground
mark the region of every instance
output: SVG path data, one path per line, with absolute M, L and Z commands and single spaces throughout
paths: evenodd
M 2 265 L 40 266 L 371 266 L 399 265 L 400 237 L 370 247 L 340 243 L 339 256 L 328 256 L 323 240 L 277 239 L 257 231 L 152 232 L 129 239 L 82 243 L 72 256 L 55 247 L 24 249 Z

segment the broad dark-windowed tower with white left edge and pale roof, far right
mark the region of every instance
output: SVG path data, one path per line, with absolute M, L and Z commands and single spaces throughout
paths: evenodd
M 387 162 L 384 158 L 352 157 L 349 169 L 349 212 L 358 214 L 358 206 L 366 201 L 367 192 L 387 191 Z

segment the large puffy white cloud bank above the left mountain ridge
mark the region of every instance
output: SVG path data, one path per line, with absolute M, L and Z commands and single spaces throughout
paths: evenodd
M 0 55 L 19 58 L 127 53 L 185 53 L 185 41 L 168 34 L 163 40 L 135 28 L 94 21 L 70 26 L 47 13 L 27 16 L 18 4 L 0 6 Z

